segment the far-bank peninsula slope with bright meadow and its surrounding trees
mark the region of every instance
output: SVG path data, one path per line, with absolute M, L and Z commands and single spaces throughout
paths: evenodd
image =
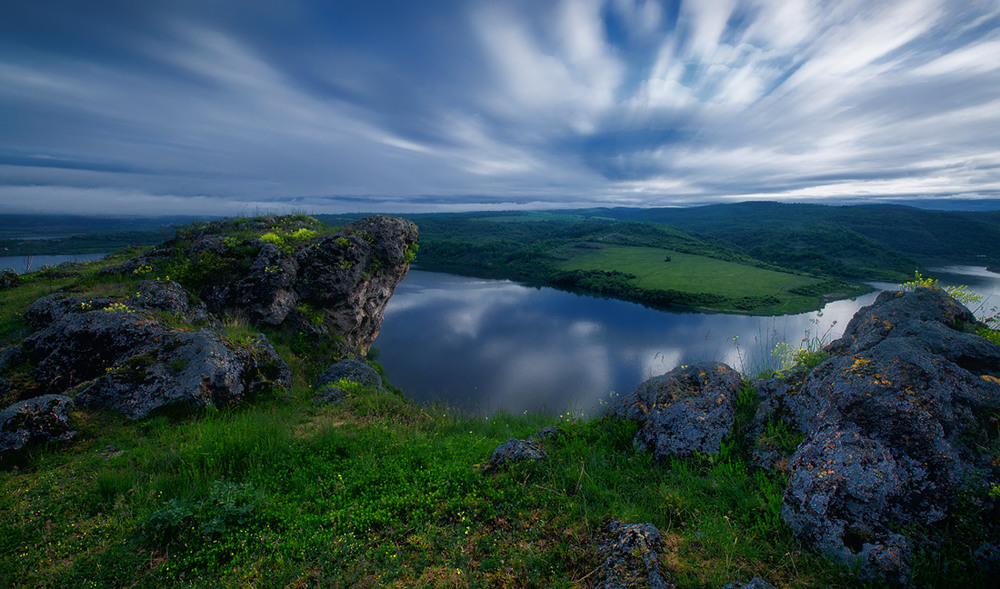
M 818 308 L 829 298 L 861 291 L 839 281 L 781 272 L 664 225 L 534 212 L 422 215 L 414 220 L 421 227 L 419 263 L 423 267 L 558 284 L 648 304 L 787 313 Z M 632 254 L 639 257 L 630 259 Z M 670 268 L 661 264 L 667 255 L 677 256 Z M 626 292 L 622 285 L 605 282 L 597 288 L 579 280 L 566 284 L 560 275 L 579 269 L 625 271 L 638 277 L 628 288 L 675 291 L 683 298 L 670 295 L 661 303 L 656 295 Z M 811 287 L 811 291 L 788 292 L 796 287 Z

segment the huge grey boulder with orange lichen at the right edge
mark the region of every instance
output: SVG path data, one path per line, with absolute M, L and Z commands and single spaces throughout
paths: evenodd
M 863 578 L 906 584 L 912 540 L 891 522 L 940 521 L 960 490 L 997 480 L 976 446 L 995 442 L 1000 347 L 976 325 L 942 290 L 885 292 L 829 360 L 798 382 L 764 383 L 758 417 L 780 414 L 806 434 L 782 506 L 799 541 Z

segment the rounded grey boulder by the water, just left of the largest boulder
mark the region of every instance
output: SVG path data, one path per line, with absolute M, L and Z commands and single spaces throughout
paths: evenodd
M 740 386 L 725 364 L 680 366 L 618 398 L 608 416 L 638 422 L 636 446 L 657 459 L 714 455 L 732 428 Z

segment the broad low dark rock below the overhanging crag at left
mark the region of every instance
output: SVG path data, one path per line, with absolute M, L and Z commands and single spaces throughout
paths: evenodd
M 177 288 L 145 284 L 127 303 L 40 299 L 26 313 L 40 330 L 21 344 L 35 364 L 32 377 L 50 392 L 72 390 L 78 405 L 130 419 L 167 406 L 226 406 L 290 387 L 288 367 L 263 336 L 234 341 L 162 323 L 150 311 L 166 307 L 182 321 L 203 313 L 192 312 Z M 142 306 L 147 299 L 152 309 Z

